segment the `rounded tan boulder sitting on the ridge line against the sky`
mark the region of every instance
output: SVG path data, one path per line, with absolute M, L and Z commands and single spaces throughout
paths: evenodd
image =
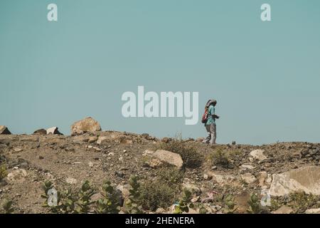
M 71 125 L 71 135 L 81 135 L 83 133 L 95 133 L 96 131 L 100 131 L 100 124 L 92 119 L 91 117 L 87 117 L 83 120 L 79 120 L 73 125 Z

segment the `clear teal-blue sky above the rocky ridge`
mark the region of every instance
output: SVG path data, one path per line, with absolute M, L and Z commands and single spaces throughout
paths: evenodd
M 198 91 L 199 115 L 218 100 L 218 143 L 319 142 L 319 28 L 319 0 L 1 0 L 0 125 L 68 135 L 92 116 L 103 130 L 206 136 L 200 120 L 123 118 L 122 93 L 144 86 Z

